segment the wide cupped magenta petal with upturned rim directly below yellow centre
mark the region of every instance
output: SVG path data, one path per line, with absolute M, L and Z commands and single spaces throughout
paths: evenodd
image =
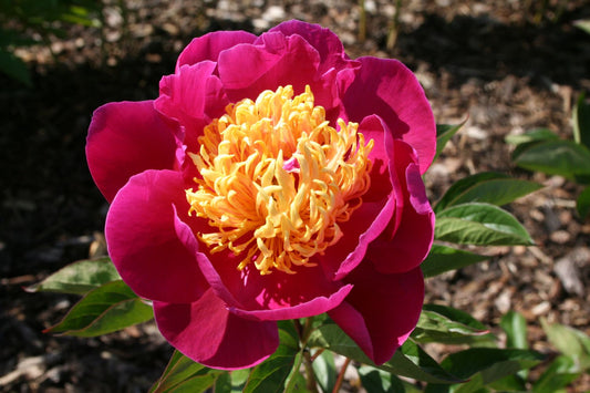
M 230 252 L 208 255 L 200 249 L 195 226 L 180 220 L 175 226 L 178 238 L 196 256 L 216 296 L 231 312 L 244 318 L 266 321 L 320 314 L 340 304 L 352 289 L 350 285 L 327 279 L 319 267 L 302 268 L 297 275 L 273 271 L 260 276 L 251 265 L 238 271 L 240 259 Z

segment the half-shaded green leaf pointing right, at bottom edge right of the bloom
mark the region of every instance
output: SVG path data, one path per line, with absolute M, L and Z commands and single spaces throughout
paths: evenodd
M 449 354 L 441 365 L 449 373 L 469 381 L 453 389 L 454 393 L 475 392 L 490 383 L 513 375 L 520 370 L 528 370 L 544 360 L 535 351 L 472 348 Z M 428 385 L 428 392 L 446 392 L 448 386 Z

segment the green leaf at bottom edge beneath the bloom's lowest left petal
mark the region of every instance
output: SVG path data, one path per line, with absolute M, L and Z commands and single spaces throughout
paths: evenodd
M 215 382 L 216 374 L 219 372 L 220 371 L 208 369 L 175 350 L 168 361 L 168 365 L 166 365 L 162 376 L 154 383 L 149 393 L 172 392 L 187 381 L 196 383 L 197 381 L 193 380 L 194 378 L 201 378 L 209 373 L 214 373 L 214 378 L 209 378 L 210 383 L 208 386 L 211 386 Z M 200 382 L 204 381 L 201 380 Z

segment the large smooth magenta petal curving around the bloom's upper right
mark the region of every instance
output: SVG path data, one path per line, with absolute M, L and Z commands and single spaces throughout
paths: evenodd
M 349 121 L 376 114 L 396 138 L 418 155 L 424 174 L 436 153 L 436 125 L 424 90 L 414 74 L 397 60 L 359 58 L 362 66 L 343 102 Z

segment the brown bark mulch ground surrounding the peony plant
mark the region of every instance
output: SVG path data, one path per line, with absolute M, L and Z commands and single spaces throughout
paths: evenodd
M 260 33 L 292 18 L 332 29 L 353 58 L 396 58 L 418 76 L 437 123 L 466 120 L 426 177 L 433 201 L 453 182 L 497 170 L 545 188 L 507 208 L 535 247 L 486 249 L 487 262 L 427 282 L 429 302 L 473 313 L 498 332 L 500 317 L 522 312 L 534 349 L 551 352 L 540 319 L 590 334 L 590 223 L 575 210 L 580 188 L 510 163 L 507 135 L 547 127 L 571 138 L 572 103 L 590 91 L 590 35 L 572 22 L 590 18 L 582 0 L 402 1 L 395 45 L 387 46 L 393 2 L 127 0 L 127 20 L 105 1 L 105 27 L 74 27 L 46 46 L 19 51 L 34 86 L 0 76 L 0 391 L 142 392 L 172 352 L 153 324 L 95 339 L 42 333 L 76 301 L 23 287 L 104 249 L 107 209 L 85 164 L 94 108 L 157 96 L 193 37 L 213 30 Z M 501 334 L 500 334 L 501 337 Z M 432 347 L 435 356 L 448 349 Z M 354 381 L 349 381 L 354 391 Z M 571 392 L 590 390 L 583 376 Z

